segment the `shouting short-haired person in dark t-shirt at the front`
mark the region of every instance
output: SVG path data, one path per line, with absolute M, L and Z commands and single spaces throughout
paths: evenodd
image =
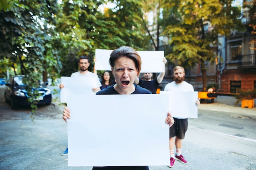
M 121 46 L 110 54 L 110 66 L 112 74 L 115 77 L 116 84 L 104 88 L 96 95 L 130 95 L 130 94 L 151 94 L 145 88 L 134 84 L 135 79 L 139 76 L 141 70 L 141 57 L 129 46 Z M 131 103 L 132 104 L 132 101 Z M 115 107 L 115 105 L 112 105 Z M 109 108 L 111 109 L 111 108 Z M 70 119 L 70 110 L 65 107 L 63 110 L 63 119 L 67 122 Z M 120 120 L 123 121 L 123 120 Z M 172 126 L 173 117 L 167 113 L 165 123 Z M 124 125 L 125 126 L 125 125 Z M 93 170 L 148 170 L 148 166 L 115 166 L 115 167 L 93 167 Z

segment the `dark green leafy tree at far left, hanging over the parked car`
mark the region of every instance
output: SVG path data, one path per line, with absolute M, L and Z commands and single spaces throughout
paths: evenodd
M 61 67 L 58 57 L 50 57 L 47 53 L 58 51 L 56 46 L 49 46 L 56 39 L 52 26 L 58 3 L 56 0 L 20 0 L 12 5 L 14 8 L 10 10 L 0 10 L 0 60 L 9 60 L 13 67 L 19 66 L 20 74 L 29 76 L 27 90 L 31 93 L 46 71 L 45 65 L 53 66 L 57 71 Z M 37 94 L 30 95 L 30 100 L 36 104 Z

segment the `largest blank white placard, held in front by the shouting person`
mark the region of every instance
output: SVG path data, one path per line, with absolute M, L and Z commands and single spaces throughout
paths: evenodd
M 170 164 L 168 95 L 71 96 L 68 166 Z

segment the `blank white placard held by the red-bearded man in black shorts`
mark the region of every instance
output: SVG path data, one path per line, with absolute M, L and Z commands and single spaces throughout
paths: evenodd
M 160 94 L 169 94 L 169 109 L 173 117 L 198 118 L 197 91 L 160 91 Z

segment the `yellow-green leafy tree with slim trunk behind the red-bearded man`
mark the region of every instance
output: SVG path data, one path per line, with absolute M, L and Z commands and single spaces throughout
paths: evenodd
M 200 64 L 203 91 L 207 77 L 205 61 L 214 62 L 216 54 L 211 45 L 218 44 L 218 35 L 229 36 L 231 30 L 245 27 L 238 19 L 240 8 L 233 0 L 163 0 L 165 35 L 171 35 L 172 52 L 167 57 L 184 67 Z M 208 24 L 209 30 L 204 29 Z

